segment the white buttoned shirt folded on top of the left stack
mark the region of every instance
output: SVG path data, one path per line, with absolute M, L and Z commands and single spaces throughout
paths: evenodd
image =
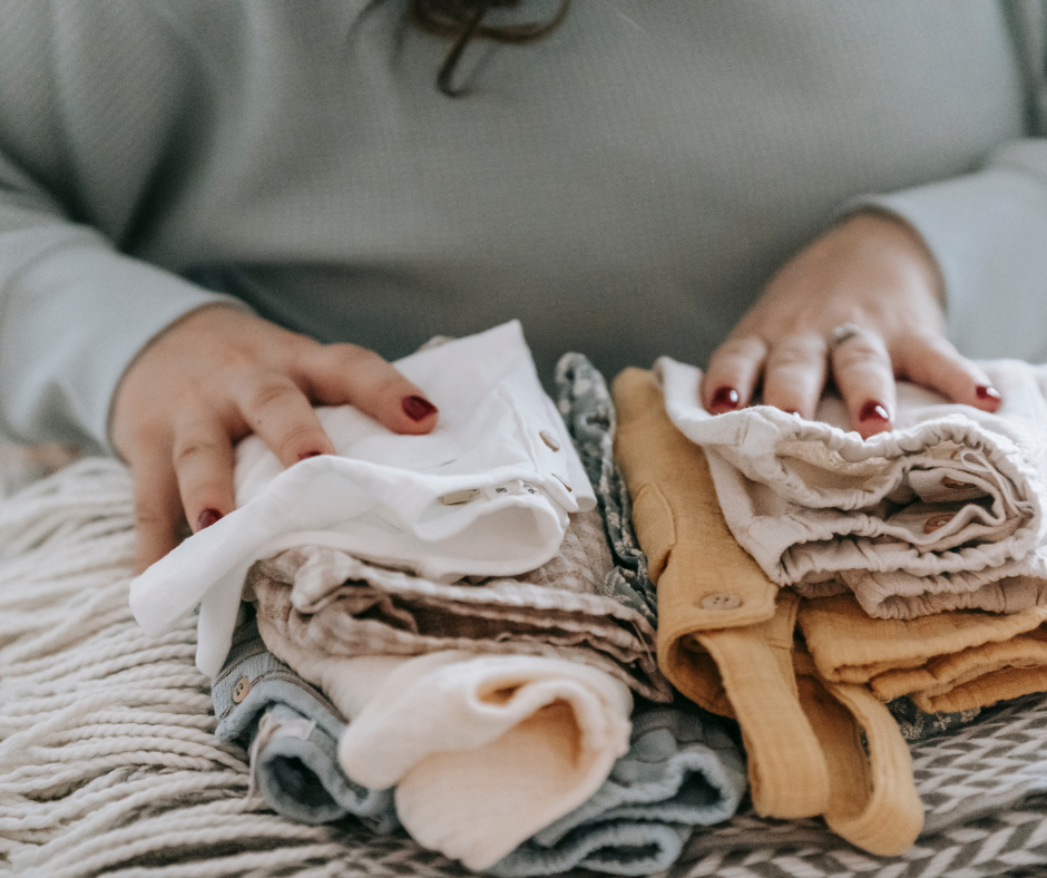
M 236 448 L 237 509 L 131 583 L 150 635 L 200 605 L 197 666 L 221 670 L 247 569 L 301 545 L 451 582 L 512 576 L 551 558 L 568 514 L 596 497 L 545 394 L 517 321 L 395 367 L 440 410 L 399 436 L 350 406 L 317 409 L 336 449 L 284 469 L 257 437 Z

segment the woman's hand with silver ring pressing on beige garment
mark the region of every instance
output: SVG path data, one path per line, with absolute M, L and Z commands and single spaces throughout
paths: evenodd
M 999 393 L 946 341 L 936 265 L 907 225 L 855 214 L 790 260 L 713 353 L 702 402 L 763 402 L 813 418 L 833 380 L 863 438 L 891 429 L 894 379 L 995 411 Z

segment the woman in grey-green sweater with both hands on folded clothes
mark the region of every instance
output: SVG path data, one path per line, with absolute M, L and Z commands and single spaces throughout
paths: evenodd
M 896 377 L 998 404 L 943 300 L 963 353 L 1043 355 L 1038 3 L 485 6 L 0 7 L 0 413 L 127 459 L 141 565 L 233 508 L 248 431 L 432 429 L 379 354 L 438 333 L 708 359 L 713 411 L 831 374 L 863 436 Z

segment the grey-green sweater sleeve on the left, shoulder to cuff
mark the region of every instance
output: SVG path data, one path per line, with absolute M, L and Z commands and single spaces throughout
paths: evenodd
M 71 20 L 87 6 L 0 4 L 0 435 L 98 450 L 138 351 L 189 311 L 236 300 L 120 253 L 177 118 L 156 101 L 133 113 L 125 96 L 151 100 L 166 77 L 177 103 L 178 76 L 163 35 L 129 20 L 133 4 L 105 0 L 90 27 Z M 120 148 L 79 139 L 77 113 L 119 131 Z

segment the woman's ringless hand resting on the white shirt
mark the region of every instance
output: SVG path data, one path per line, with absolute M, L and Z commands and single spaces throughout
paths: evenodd
M 138 569 L 236 508 L 233 445 L 257 433 L 285 467 L 334 447 L 313 403 L 352 403 L 399 433 L 427 433 L 437 409 L 372 351 L 320 344 L 225 306 L 194 311 L 131 363 L 112 439 L 135 480 Z

